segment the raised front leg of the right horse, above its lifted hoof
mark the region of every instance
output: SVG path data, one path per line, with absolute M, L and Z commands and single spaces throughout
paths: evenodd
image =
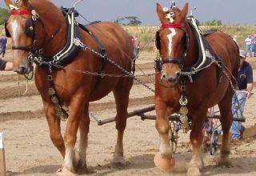
M 155 128 L 158 130 L 160 138 L 159 151 L 163 158 L 170 159 L 173 157 L 173 151 L 170 147 L 170 122 L 167 114 L 166 103 L 162 100 L 155 100 L 155 110 L 157 114 L 157 119 L 155 122 Z

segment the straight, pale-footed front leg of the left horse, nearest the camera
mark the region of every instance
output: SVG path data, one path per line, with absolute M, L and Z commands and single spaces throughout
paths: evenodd
M 75 97 L 75 95 L 74 95 Z M 77 141 L 78 126 L 80 124 L 81 118 L 84 117 L 84 107 L 85 102 L 82 98 L 74 98 L 74 101 L 70 102 L 69 118 L 66 123 L 66 131 L 64 134 L 64 142 L 66 146 L 65 158 L 62 166 L 62 171 L 58 175 L 74 175 L 74 146 Z

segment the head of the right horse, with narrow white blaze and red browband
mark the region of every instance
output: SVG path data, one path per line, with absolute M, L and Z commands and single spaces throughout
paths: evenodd
M 178 82 L 182 62 L 186 56 L 186 14 L 188 3 L 178 7 L 162 8 L 157 3 L 157 14 L 162 23 L 156 34 L 156 44 L 162 58 L 162 78 L 166 82 Z

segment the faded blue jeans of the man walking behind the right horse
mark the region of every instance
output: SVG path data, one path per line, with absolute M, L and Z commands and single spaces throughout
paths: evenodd
M 236 90 L 232 98 L 232 114 L 234 118 L 243 118 L 246 105 L 246 90 Z M 241 138 L 242 122 L 232 122 L 232 139 Z

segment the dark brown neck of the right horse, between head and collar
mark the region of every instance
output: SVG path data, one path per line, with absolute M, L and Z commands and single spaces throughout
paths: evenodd
M 198 60 L 198 42 L 194 36 L 193 31 L 190 28 L 188 22 L 185 23 L 186 25 L 186 32 L 189 38 L 189 42 L 187 43 L 188 48 L 186 50 L 186 58 L 184 61 L 185 66 L 193 66 L 195 62 Z

